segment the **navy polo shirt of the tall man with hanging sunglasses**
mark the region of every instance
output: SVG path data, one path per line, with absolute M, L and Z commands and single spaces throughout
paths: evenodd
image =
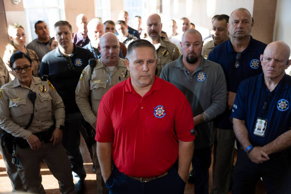
M 236 93 L 241 81 L 262 73 L 260 55 L 263 54 L 266 46 L 265 43 L 254 40 L 251 36 L 249 45 L 241 52 L 241 57 L 238 59 L 240 63 L 238 68 L 234 65 L 237 52 L 233 49 L 230 39 L 213 48 L 207 59 L 222 66 L 227 91 Z M 215 125 L 220 129 L 233 129 L 231 110 L 227 108 L 224 113 L 216 117 Z

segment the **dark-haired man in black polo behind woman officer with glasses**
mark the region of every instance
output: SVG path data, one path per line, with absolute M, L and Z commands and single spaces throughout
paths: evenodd
M 72 26 L 67 21 L 58 21 L 54 25 L 58 49 L 50 51 L 43 58 L 39 67 L 39 76 L 48 75 L 48 80 L 61 96 L 65 105 L 65 126 L 63 128 L 62 143 L 71 162 L 73 176 L 76 181 L 75 190 L 84 193 L 84 179 L 86 172 L 80 153 L 80 132 L 84 139 L 88 138 L 85 120 L 75 100 L 75 89 L 83 69 L 88 60 L 94 55 L 76 46 L 72 42 Z

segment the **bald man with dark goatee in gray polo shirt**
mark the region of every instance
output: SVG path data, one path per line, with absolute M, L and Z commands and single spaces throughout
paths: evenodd
M 201 34 L 187 30 L 182 36 L 182 55 L 164 67 L 160 78 L 177 86 L 190 102 L 198 133 L 192 158 L 195 193 L 203 194 L 208 193 L 213 119 L 226 108 L 226 82 L 222 67 L 203 58 L 202 46 Z

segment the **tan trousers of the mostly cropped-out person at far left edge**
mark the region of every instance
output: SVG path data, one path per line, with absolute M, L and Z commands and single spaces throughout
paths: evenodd
M 20 176 L 17 172 L 17 167 L 12 164 L 12 154 L 9 154 L 4 147 L 2 147 L 2 142 L 0 141 L 0 153 L 3 157 L 7 175 L 10 179 L 12 185 L 12 191 L 25 191 L 23 184 L 21 182 Z

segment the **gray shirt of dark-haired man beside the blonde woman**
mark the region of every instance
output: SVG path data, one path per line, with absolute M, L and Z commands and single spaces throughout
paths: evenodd
M 50 43 L 54 40 L 55 38 L 52 37 L 50 38 L 50 41 L 48 42 L 47 45 L 45 45 L 43 42 L 40 40 L 34 39 L 31 41 L 26 48 L 34 50 L 37 53 L 37 56 L 39 58 L 39 61 L 42 61 L 42 57 L 45 56 L 46 53 L 50 52 Z

